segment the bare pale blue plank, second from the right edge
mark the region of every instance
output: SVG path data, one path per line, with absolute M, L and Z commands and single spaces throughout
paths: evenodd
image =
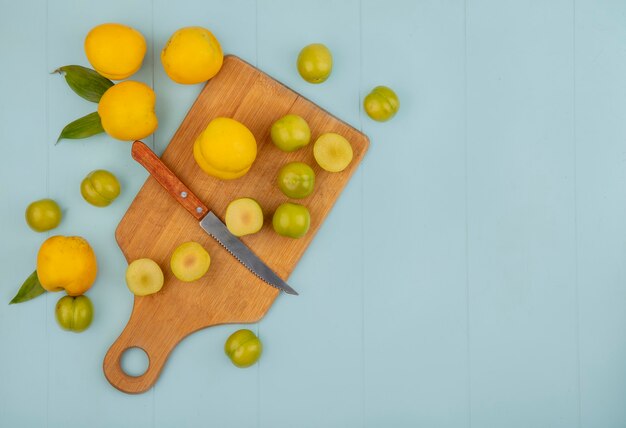
M 471 425 L 576 426 L 571 2 L 467 22 Z

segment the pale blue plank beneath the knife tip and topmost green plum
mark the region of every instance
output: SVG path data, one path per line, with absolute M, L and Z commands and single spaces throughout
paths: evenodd
M 291 0 L 259 1 L 259 68 L 361 128 L 359 1 L 319 0 L 306 11 L 315 25 L 299 19 L 276 25 L 276 16 L 293 6 Z M 294 72 L 298 50 L 314 42 L 326 44 L 335 60 L 332 75 L 321 85 L 304 82 Z M 294 421 L 303 428 L 362 423 L 363 173 L 376 146 L 372 139 L 362 166 L 291 276 L 302 284 L 302 298 L 281 298 L 259 322 L 261 338 L 271 340 L 259 366 L 260 427 L 289 428 Z

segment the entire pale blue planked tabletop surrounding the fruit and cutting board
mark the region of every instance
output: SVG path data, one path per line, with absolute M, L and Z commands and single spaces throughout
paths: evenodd
M 136 79 L 157 93 L 162 152 L 200 91 L 159 52 L 188 25 L 345 119 L 371 149 L 281 296 L 252 328 L 260 364 L 192 335 L 157 385 L 112 388 L 102 358 L 132 296 L 113 231 L 146 178 L 106 136 L 54 146 L 94 105 L 58 75 L 87 61 L 103 22 L 139 29 Z M 626 2 L 623 0 L 0 0 L 0 426 L 625 427 Z M 322 42 L 319 86 L 295 69 Z M 391 122 L 364 115 L 375 85 Z M 116 173 L 120 198 L 85 203 L 81 179 Z M 60 297 L 8 306 L 46 234 L 23 219 L 51 197 L 55 234 L 82 235 L 100 274 L 83 334 Z M 132 366 L 132 361 L 129 362 Z

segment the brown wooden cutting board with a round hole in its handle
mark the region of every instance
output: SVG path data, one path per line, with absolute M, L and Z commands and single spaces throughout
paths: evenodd
M 288 113 L 304 117 L 311 127 L 311 144 L 294 153 L 280 151 L 270 139 L 272 123 Z M 209 177 L 193 158 L 196 137 L 219 116 L 242 122 L 257 139 L 254 165 L 236 180 Z M 324 132 L 341 134 L 352 145 L 354 159 L 343 172 L 323 171 L 313 158 L 313 141 Z M 252 197 L 259 201 L 265 224 L 259 233 L 245 236 L 242 241 L 287 279 L 363 159 L 368 144 L 361 132 L 243 60 L 227 56 L 222 70 L 203 88 L 161 159 L 222 220 L 233 199 Z M 316 174 L 313 194 L 297 201 L 311 213 L 311 228 L 300 239 L 279 236 L 271 224 L 276 207 L 288 201 L 276 185 L 278 170 L 295 160 L 308 163 Z M 160 292 L 135 297 L 128 324 L 104 358 L 106 378 L 123 392 L 148 390 L 172 349 L 185 336 L 218 324 L 256 322 L 278 295 L 278 290 L 250 273 L 200 229 L 197 220 L 152 177 L 128 208 L 115 237 L 128 262 L 149 257 L 159 263 L 165 275 Z M 190 240 L 201 243 L 211 254 L 211 268 L 202 279 L 183 283 L 172 274 L 169 260 L 178 245 Z M 288 305 L 290 299 L 306 299 L 306 290 L 298 284 L 290 285 L 302 295 L 287 296 L 283 304 Z M 142 348 L 148 355 L 149 367 L 141 376 L 129 376 L 121 369 L 120 357 L 131 347 Z

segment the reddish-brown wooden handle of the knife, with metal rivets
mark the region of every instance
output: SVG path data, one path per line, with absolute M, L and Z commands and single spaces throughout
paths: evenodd
M 201 220 L 209 212 L 206 205 L 143 142 L 135 141 L 130 153 L 196 219 Z

